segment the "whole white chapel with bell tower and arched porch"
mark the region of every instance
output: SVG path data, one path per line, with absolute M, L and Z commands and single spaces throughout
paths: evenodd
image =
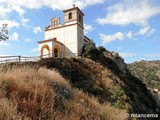
M 82 47 L 90 41 L 83 32 L 83 12 L 73 5 L 63 13 L 64 24 L 60 18 L 53 17 L 44 30 L 44 40 L 38 42 L 41 58 L 80 56 Z

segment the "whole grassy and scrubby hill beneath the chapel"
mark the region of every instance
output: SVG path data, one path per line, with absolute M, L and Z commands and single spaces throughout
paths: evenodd
M 0 72 L 2 119 L 125 120 L 125 113 L 160 114 L 124 60 L 93 43 L 84 47 L 82 58 L 11 63 Z

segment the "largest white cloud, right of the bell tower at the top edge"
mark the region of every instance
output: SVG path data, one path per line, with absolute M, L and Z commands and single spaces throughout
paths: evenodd
M 123 0 L 107 8 L 104 18 L 98 18 L 99 24 L 129 25 L 131 23 L 146 26 L 148 19 L 160 13 L 157 7 L 149 0 Z

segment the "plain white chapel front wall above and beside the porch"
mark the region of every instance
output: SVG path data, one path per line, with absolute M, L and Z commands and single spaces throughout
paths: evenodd
M 65 52 L 78 54 L 78 35 L 77 24 L 55 28 L 50 31 L 45 31 L 44 39 L 57 38 L 57 41 L 63 43 L 66 48 Z

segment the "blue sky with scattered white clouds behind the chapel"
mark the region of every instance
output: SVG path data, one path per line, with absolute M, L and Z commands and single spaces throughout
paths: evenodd
M 84 34 L 96 46 L 118 52 L 126 63 L 160 60 L 160 0 L 0 0 L 0 56 L 38 56 L 38 41 L 51 18 L 75 4 L 84 16 Z

